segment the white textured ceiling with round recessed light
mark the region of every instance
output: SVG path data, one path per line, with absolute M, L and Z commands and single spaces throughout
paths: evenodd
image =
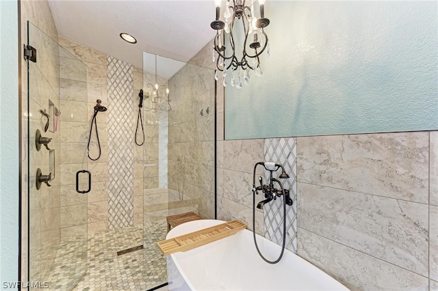
M 143 52 L 188 61 L 215 35 L 213 0 L 49 0 L 49 5 L 60 36 L 140 68 Z M 137 44 L 122 40 L 122 32 Z M 145 68 L 153 72 L 154 66 Z

